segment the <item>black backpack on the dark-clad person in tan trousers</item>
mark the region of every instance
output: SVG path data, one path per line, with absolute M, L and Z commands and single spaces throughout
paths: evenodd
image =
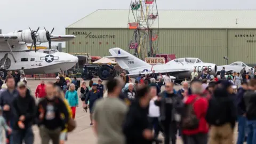
M 212 97 L 206 112 L 206 122 L 210 125 L 220 126 L 228 122 L 229 105 L 226 100 L 218 100 Z

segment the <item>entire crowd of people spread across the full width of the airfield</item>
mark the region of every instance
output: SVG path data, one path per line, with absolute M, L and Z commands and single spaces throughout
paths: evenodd
M 81 86 L 76 77 L 60 73 L 55 83 L 41 81 L 35 97 L 21 71 L 9 72 L 5 82 L 0 81 L 0 129 L 6 132 L 6 143 L 34 143 L 33 125 L 38 125 L 43 144 L 65 143 L 76 127 L 80 98 L 84 111 L 90 111 L 98 143 L 173 144 L 182 139 L 185 144 L 228 144 L 234 143 L 236 122 L 237 144 L 256 143 L 254 75 L 233 73 L 209 81 L 205 71 L 206 77 L 191 73 L 193 80 L 180 90 L 174 89 L 169 75 L 155 71 L 139 75 L 135 83 L 123 71 L 106 85 L 98 79 Z M 161 133 L 164 140 L 158 137 Z

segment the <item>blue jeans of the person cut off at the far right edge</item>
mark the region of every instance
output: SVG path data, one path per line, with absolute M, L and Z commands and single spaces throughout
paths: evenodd
M 247 144 L 254 144 L 256 143 L 256 120 L 248 121 L 248 137 L 247 137 Z

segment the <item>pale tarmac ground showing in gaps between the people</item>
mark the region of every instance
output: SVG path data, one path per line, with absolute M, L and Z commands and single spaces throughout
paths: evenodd
M 96 83 L 98 79 L 93 79 L 93 81 Z M 55 79 L 44 79 L 45 82 L 47 81 L 52 81 L 54 82 Z M 40 80 L 28 80 L 28 87 L 31 89 L 32 93 L 35 93 L 36 86 L 40 83 Z M 89 81 L 86 81 L 88 84 Z M 181 89 L 182 86 L 175 86 L 176 90 Z M 162 87 L 162 90 L 164 87 Z M 78 89 L 79 93 L 79 89 Z M 78 94 L 79 95 L 79 94 Z M 90 144 L 96 144 L 97 139 L 92 131 L 92 126 L 90 126 L 90 117 L 89 117 L 89 112 L 85 113 L 82 108 L 82 101 L 79 100 L 79 106 L 76 109 L 76 118 L 77 122 L 77 127 L 76 129 L 68 133 L 68 141 L 66 142 L 67 144 L 80 144 L 80 143 L 90 143 Z M 237 126 L 236 126 L 237 127 Z M 37 125 L 33 126 L 33 131 L 35 135 L 35 144 L 41 144 L 41 138 L 39 135 L 39 131 L 37 128 Z M 236 141 L 237 139 L 237 129 L 234 131 L 234 140 Z M 159 138 L 163 138 L 162 134 L 159 134 Z M 182 141 L 180 138 L 178 138 L 177 144 L 182 144 Z

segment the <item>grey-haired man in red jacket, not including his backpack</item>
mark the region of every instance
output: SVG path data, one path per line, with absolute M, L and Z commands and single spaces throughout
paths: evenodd
M 194 82 L 193 82 L 194 81 Z M 203 87 L 200 81 L 197 79 L 193 80 L 190 84 L 191 95 L 187 97 L 185 105 L 191 104 L 194 102 L 193 108 L 195 115 L 199 120 L 199 126 L 194 130 L 182 131 L 183 143 L 197 143 L 197 144 L 206 144 L 207 143 L 207 133 L 209 131 L 209 126 L 206 123 L 205 115 L 208 108 L 208 101 L 206 98 L 201 97 L 203 92 Z

